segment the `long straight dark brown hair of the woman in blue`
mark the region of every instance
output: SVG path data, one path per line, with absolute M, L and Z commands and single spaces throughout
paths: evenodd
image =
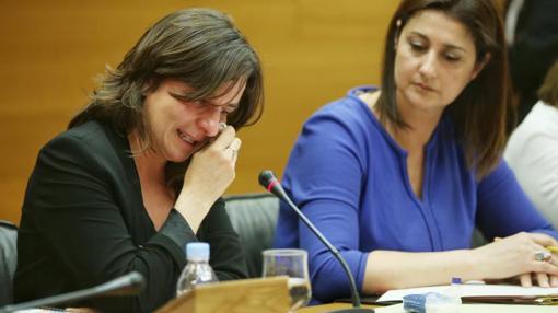
M 396 106 L 395 43 L 406 22 L 422 10 L 437 10 L 463 23 L 473 37 L 477 63 L 490 56 L 476 79 L 447 107 L 467 165 L 480 178 L 498 164 L 507 138 L 508 55 L 502 21 L 493 1 L 402 1 L 390 22 L 385 38 L 382 93 L 376 104 L 380 118 L 396 128 L 409 127 Z

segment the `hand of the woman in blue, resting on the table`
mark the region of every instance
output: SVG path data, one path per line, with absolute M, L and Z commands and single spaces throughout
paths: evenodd
M 558 286 L 558 255 L 537 260 L 535 254 L 557 241 L 542 233 L 521 232 L 474 250 L 486 279 L 519 277 L 521 285 L 532 286 L 532 275 L 540 287 Z

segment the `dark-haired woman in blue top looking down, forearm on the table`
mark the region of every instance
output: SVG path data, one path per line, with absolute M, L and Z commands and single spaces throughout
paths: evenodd
M 558 286 L 558 255 L 535 258 L 558 233 L 501 161 L 508 69 L 492 1 L 404 0 L 384 53 L 382 88 L 314 114 L 283 176 L 360 291 L 454 276 Z M 475 225 L 501 240 L 470 248 Z M 287 207 L 276 246 L 309 251 L 315 299 L 349 295 L 338 262 Z

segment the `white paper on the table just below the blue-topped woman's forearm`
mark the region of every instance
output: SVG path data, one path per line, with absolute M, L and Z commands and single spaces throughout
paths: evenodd
M 432 286 L 409 289 L 396 289 L 385 292 L 377 302 L 383 301 L 403 301 L 403 297 L 407 294 L 439 292 L 447 293 L 453 286 Z M 452 290 L 453 292 L 453 290 Z M 461 297 L 558 297 L 558 287 L 521 287 L 515 285 L 469 285 L 462 283 L 458 286 Z

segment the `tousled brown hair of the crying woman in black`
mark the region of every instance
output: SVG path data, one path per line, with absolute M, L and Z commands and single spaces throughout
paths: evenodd
M 263 114 L 263 73 L 254 48 L 225 14 L 187 9 L 161 19 L 116 69 L 107 67 L 100 86 L 68 128 L 98 120 L 124 136 L 137 130 L 141 150 L 150 148 L 144 95 L 165 79 L 177 79 L 191 86 L 193 92 L 187 95 L 191 101 L 216 96 L 223 83 L 243 81 L 244 94 L 226 123 L 240 129 L 256 123 Z M 166 166 L 167 186 L 175 192 L 182 186 L 186 167 L 187 161 L 168 162 Z

